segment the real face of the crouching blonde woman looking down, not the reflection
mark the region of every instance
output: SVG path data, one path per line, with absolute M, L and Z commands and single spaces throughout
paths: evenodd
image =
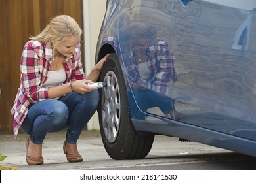
M 56 46 L 56 50 L 65 57 L 70 58 L 80 42 L 79 37 L 68 37 L 65 41 Z

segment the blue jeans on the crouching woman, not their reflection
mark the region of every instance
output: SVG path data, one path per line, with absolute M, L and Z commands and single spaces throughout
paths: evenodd
M 83 95 L 72 92 L 60 99 L 39 101 L 30 106 L 21 129 L 35 144 L 42 144 L 47 133 L 67 129 L 66 142 L 76 144 L 81 131 L 95 113 L 98 90 Z

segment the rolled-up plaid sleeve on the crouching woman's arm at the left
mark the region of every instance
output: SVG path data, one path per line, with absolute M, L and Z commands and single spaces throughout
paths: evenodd
M 22 52 L 20 61 L 21 82 L 24 87 L 26 97 L 30 103 L 36 103 L 48 99 L 48 88 L 43 88 L 41 84 L 41 67 L 39 57 L 43 50 L 40 46 L 26 44 Z

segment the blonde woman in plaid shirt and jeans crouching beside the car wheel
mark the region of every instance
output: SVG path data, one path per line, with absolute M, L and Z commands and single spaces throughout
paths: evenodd
M 81 64 L 81 28 L 73 18 L 56 16 L 39 35 L 30 37 L 20 61 L 20 88 L 11 109 L 14 138 L 29 134 L 28 165 L 43 164 L 42 143 L 49 132 L 66 131 L 63 150 L 67 160 L 83 161 L 77 151 L 81 131 L 99 102 L 95 82 L 106 61 L 101 59 L 85 76 Z

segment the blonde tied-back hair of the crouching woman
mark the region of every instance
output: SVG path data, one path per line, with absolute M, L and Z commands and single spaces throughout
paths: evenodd
M 48 43 L 51 42 L 51 38 L 53 38 L 54 44 L 52 46 L 54 53 L 58 44 L 65 41 L 70 36 L 79 37 L 80 39 L 81 34 L 82 30 L 74 18 L 68 15 L 59 15 L 54 17 L 39 35 L 30 37 L 30 39 Z

